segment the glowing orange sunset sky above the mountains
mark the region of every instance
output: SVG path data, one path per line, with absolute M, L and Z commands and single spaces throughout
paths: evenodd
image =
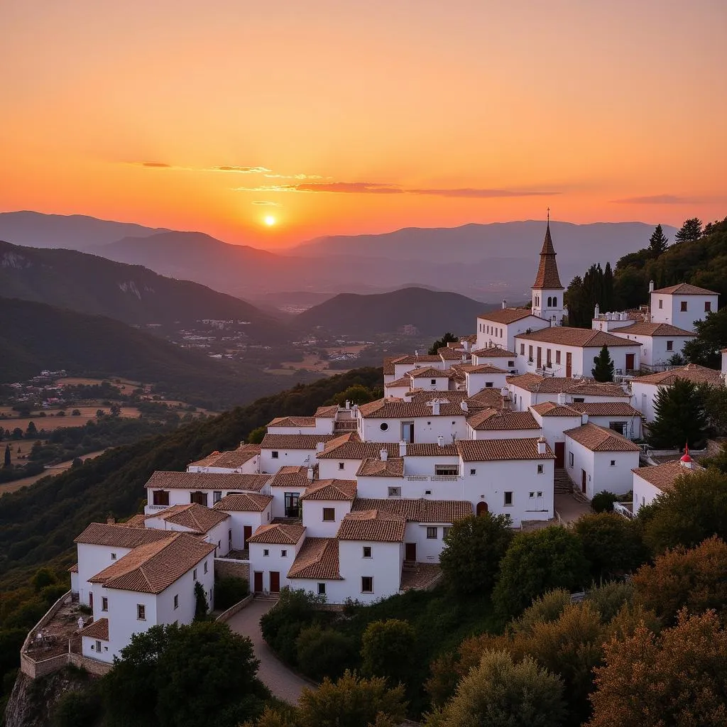
M 721 0 L 3 0 L 0 27 L 3 211 L 271 248 L 727 214 Z

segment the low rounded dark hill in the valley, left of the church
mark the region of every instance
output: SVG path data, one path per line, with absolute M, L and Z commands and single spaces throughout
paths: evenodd
M 440 336 L 445 331 L 466 334 L 474 330 L 478 313 L 488 308 L 492 306 L 457 293 L 425 288 L 376 295 L 342 293 L 303 311 L 294 324 L 302 330 L 320 326 L 332 333 L 366 336 L 395 332 L 409 324 L 423 335 Z

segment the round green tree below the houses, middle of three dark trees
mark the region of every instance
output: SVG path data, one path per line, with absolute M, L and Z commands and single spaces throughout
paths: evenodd
M 517 616 L 551 588 L 582 588 L 590 563 L 577 534 L 560 526 L 518 533 L 500 563 L 492 600 L 502 616 Z

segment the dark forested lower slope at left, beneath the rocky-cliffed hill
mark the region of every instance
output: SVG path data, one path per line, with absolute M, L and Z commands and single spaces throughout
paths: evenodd
M 0 298 L 0 350 L 0 382 L 27 379 L 41 369 L 116 375 L 155 382 L 210 409 L 290 385 L 289 377 L 177 348 L 111 318 L 9 298 Z

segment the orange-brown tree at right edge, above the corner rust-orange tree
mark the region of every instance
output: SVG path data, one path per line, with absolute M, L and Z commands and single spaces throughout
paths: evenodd
M 711 537 L 697 547 L 676 547 L 641 566 L 633 577 L 636 593 L 665 623 L 686 606 L 691 614 L 714 608 L 727 615 L 727 544 Z

